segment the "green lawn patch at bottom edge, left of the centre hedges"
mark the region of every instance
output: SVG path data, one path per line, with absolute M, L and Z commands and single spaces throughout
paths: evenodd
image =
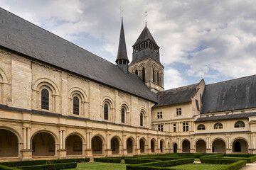
M 75 169 L 69 170 L 125 170 L 126 164 L 114 164 L 114 163 L 103 163 L 103 162 L 85 162 L 85 163 L 78 163 L 78 166 Z M 67 169 L 68 170 L 68 169 Z

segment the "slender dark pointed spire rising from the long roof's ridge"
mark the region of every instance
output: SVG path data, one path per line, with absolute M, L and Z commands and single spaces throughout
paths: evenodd
M 127 48 L 124 38 L 124 24 L 123 24 L 123 18 L 121 23 L 121 30 L 120 30 L 120 38 L 119 38 L 119 46 L 118 46 L 118 52 L 117 52 L 117 65 L 119 64 L 128 64 L 129 60 L 127 57 Z

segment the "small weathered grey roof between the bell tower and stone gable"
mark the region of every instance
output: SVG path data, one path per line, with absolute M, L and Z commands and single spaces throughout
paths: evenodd
M 158 92 L 157 97 L 159 99 L 159 103 L 157 103 L 154 108 L 191 101 L 191 98 L 196 94 L 197 85 L 198 84 L 192 84 L 189 86 Z

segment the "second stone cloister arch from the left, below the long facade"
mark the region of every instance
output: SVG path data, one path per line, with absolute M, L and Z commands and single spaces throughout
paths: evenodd
M 55 156 L 57 137 L 48 130 L 39 130 L 31 137 L 32 157 Z

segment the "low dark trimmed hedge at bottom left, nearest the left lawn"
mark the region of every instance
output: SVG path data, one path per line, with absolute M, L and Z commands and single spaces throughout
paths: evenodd
M 76 168 L 78 163 L 62 163 L 62 164 L 44 164 L 44 165 L 33 165 L 33 166 L 19 166 L 18 169 L 23 170 L 59 170 L 59 169 L 72 169 Z

